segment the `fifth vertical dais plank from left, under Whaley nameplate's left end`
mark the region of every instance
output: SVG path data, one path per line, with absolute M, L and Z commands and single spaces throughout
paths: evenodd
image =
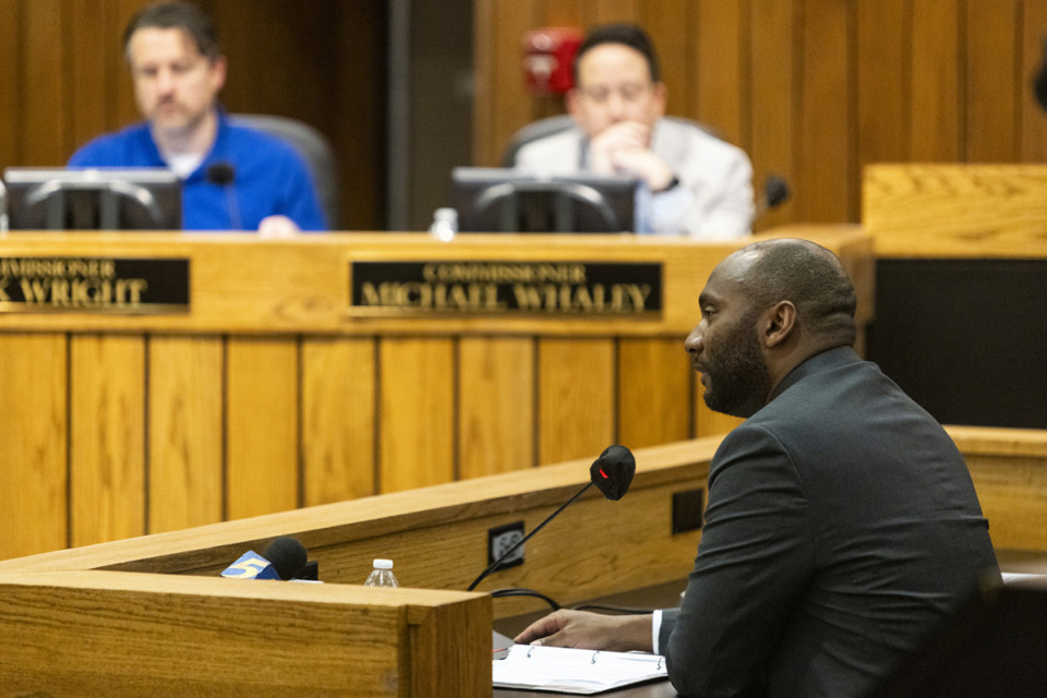
M 303 342 L 305 506 L 377 494 L 375 375 L 373 339 Z

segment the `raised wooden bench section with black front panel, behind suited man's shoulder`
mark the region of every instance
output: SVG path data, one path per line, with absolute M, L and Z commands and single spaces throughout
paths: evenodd
M 876 165 L 868 357 L 944 423 L 1047 428 L 1047 166 Z

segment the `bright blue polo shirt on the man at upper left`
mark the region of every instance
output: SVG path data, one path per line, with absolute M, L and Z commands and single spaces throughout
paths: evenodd
M 231 165 L 232 182 L 207 181 L 207 169 Z M 71 167 L 167 167 L 147 123 L 99 136 L 70 158 Z M 229 201 L 231 188 L 236 205 Z M 233 226 L 239 208 L 240 226 Z M 218 137 L 204 161 L 182 181 L 185 230 L 257 230 L 266 216 L 284 215 L 302 230 L 327 230 L 312 177 L 294 149 L 275 136 L 229 122 L 219 112 Z

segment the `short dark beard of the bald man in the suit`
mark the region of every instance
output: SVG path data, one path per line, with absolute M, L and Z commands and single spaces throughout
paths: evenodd
M 715 412 L 748 419 L 767 401 L 771 376 L 757 338 L 758 315 L 743 317 L 711 360 L 703 361 L 709 385 L 702 397 Z

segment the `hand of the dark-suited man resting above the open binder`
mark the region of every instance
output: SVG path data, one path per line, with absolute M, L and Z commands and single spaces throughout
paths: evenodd
M 653 649 L 650 615 L 602 615 L 565 610 L 535 621 L 514 641 L 617 652 Z

